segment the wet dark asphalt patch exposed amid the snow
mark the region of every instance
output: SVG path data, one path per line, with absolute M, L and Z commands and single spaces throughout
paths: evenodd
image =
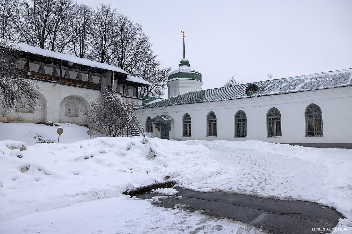
M 257 196 L 216 192 L 203 193 L 182 188 L 177 196 L 163 199 L 159 206 L 174 208 L 183 204 L 188 210 L 203 210 L 204 214 L 230 218 L 255 227 L 262 227 L 272 234 L 320 234 L 330 233 L 327 228 L 336 227 L 344 218 L 334 209 L 306 201 L 283 201 Z M 137 195 L 137 198 L 150 199 L 157 193 Z

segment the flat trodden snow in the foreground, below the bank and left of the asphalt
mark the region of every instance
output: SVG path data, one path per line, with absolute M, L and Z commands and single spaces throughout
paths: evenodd
M 121 197 L 35 212 L 1 223 L 1 233 L 134 234 L 265 233 L 252 225 L 200 212 L 165 209 L 147 200 Z

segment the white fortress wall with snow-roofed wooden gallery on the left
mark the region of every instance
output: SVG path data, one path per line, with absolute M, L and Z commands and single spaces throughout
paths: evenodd
M 132 99 L 136 105 L 147 100 L 139 96 L 141 87 L 149 90 L 150 83 L 118 67 L 19 43 L 11 43 L 11 48 L 22 77 L 36 89 L 39 106 L 33 107 L 25 100 L 17 103 L 15 111 L 8 112 L 0 106 L 0 122 L 89 125 L 83 112 L 97 98 L 120 103 Z M 140 128 L 143 134 L 138 121 L 133 116 L 129 118 L 133 131 Z

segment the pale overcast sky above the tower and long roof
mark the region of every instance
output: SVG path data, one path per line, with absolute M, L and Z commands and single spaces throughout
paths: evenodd
M 92 7 L 101 1 L 79 0 Z M 109 1 L 142 25 L 163 67 L 183 58 L 202 89 L 352 67 L 352 1 Z M 167 93 L 167 91 L 165 92 Z

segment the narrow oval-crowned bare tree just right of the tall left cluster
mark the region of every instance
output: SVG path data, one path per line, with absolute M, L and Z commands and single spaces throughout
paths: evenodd
M 71 44 L 71 52 L 80 58 L 87 58 L 92 42 L 92 34 L 90 29 L 93 25 L 93 10 L 87 4 L 77 4 L 75 16 L 72 25 L 73 40 Z

